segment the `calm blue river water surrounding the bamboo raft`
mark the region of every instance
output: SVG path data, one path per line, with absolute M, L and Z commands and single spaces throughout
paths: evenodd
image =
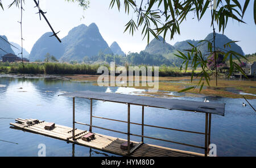
M 22 87 L 23 89 L 20 89 Z M 46 145 L 47 156 L 72 156 L 72 144 L 53 138 L 11 129 L 9 123 L 14 119 L 35 118 L 51 121 L 56 124 L 72 127 L 72 98 L 57 96 L 71 91 L 102 91 L 123 94 L 140 94 L 141 91 L 125 87 L 98 87 L 93 82 L 70 82 L 44 78 L 13 78 L 0 77 L 0 156 L 38 156 L 38 145 Z M 177 93 L 171 93 L 175 94 Z M 204 95 L 197 97 L 180 97 L 179 99 L 203 101 Z M 217 145 L 217 156 L 256 156 L 256 113 L 247 105 L 242 107 L 243 99 L 207 97 L 210 102 L 226 103 L 225 116 L 212 115 L 211 142 Z M 249 100 L 256 106 L 256 99 Z M 76 99 L 76 121 L 89 123 L 89 100 Z M 125 104 L 93 101 L 93 115 L 126 120 L 127 106 Z M 3 118 L 14 119 L 3 119 Z M 131 106 L 131 121 L 141 123 L 141 107 Z M 145 124 L 163 127 L 186 129 L 204 132 L 205 114 L 177 110 L 163 110 L 145 107 Z M 93 125 L 127 130 L 126 123 L 93 118 Z M 77 128 L 89 129 L 77 124 Z M 125 135 L 93 128 L 94 132 L 105 135 L 126 138 Z M 141 127 L 131 125 L 131 133 L 141 134 Z M 164 138 L 171 141 L 184 142 L 204 146 L 204 135 L 144 128 L 144 135 Z M 131 140 L 141 141 L 139 137 Z M 204 150 L 189 146 L 171 144 L 168 142 L 145 139 L 146 143 L 162 145 L 169 148 L 190 150 L 204 153 Z M 115 156 L 114 154 L 75 145 L 75 156 Z

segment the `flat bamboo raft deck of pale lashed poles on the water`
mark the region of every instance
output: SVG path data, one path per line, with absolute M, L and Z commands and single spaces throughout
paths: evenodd
M 39 135 L 56 138 L 59 140 L 71 142 L 73 144 L 87 146 L 89 148 L 94 148 L 102 150 L 104 152 L 117 154 L 119 156 L 127 156 L 127 150 L 120 148 L 121 144 L 127 142 L 127 140 L 112 136 L 101 135 L 99 133 L 94 133 L 94 138 L 91 141 L 84 141 L 81 139 L 82 136 L 89 133 L 89 131 L 84 131 L 81 129 L 75 129 L 73 134 L 73 128 L 66 127 L 63 125 L 55 124 L 55 127 L 51 130 L 44 129 L 48 122 L 37 120 L 32 123 L 27 121 L 33 121 L 33 119 L 16 119 L 16 123 L 10 123 L 15 129 L 22 129 L 26 132 L 32 132 Z M 73 138 L 75 136 L 75 138 Z M 184 150 L 177 150 L 171 148 L 165 148 L 163 146 L 144 144 L 143 142 L 133 142 L 133 147 L 131 147 L 131 152 L 129 156 L 133 157 L 203 157 L 204 154 L 188 152 Z

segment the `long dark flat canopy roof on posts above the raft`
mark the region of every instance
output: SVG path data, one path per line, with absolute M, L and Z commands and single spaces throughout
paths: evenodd
M 86 98 L 103 100 L 115 103 L 129 103 L 138 106 L 148 106 L 156 108 L 166 108 L 168 110 L 183 110 L 193 112 L 204 112 L 208 114 L 217 114 L 224 116 L 225 103 L 197 102 L 192 100 L 152 98 L 147 96 L 127 95 L 117 93 L 104 93 L 98 91 L 77 91 L 73 93 L 65 93 L 59 96 L 67 96 L 71 98 Z

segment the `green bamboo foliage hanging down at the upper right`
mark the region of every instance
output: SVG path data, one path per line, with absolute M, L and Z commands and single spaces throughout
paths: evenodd
M 227 52 L 218 52 L 216 51 L 215 46 L 215 25 L 218 27 L 219 31 L 224 33 L 225 28 L 227 26 L 228 20 L 233 19 L 239 23 L 243 22 L 243 16 L 247 9 L 247 6 L 250 0 L 245 0 L 245 3 L 241 5 L 241 2 L 237 0 L 214 0 L 213 4 L 212 1 L 208 0 L 150 0 L 150 1 L 132 1 L 132 0 L 123 0 L 123 5 L 125 7 L 125 12 L 127 14 L 131 12 L 137 14 L 137 18 L 134 17 L 129 20 L 126 24 L 125 32 L 129 30 L 129 33 L 133 35 L 134 31 L 137 31 L 138 28 L 142 28 L 142 35 L 147 37 L 147 43 L 150 40 L 150 34 L 153 35 L 156 39 L 158 36 L 163 34 L 163 39 L 166 38 L 167 32 L 170 32 L 170 39 L 174 39 L 174 35 L 178 33 L 180 35 L 180 25 L 184 20 L 186 20 L 186 16 L 189 13 L 195 14 L 195 18 L 200 21 L 207 9 L 210 8 L 211 10 L 211 18 L 212 22 L 209 25 L 212 27 L 213 30 L 213 43 L 211 41 L 202 40 L 200 43 L 195 46 L 189 43 L 192 46 L 192 49 L 187 49 L 184 54 L 184 51 L 179 51 L 179 54 L 175 54 L 177 57 L 183 59 L 183 64 L 180 66 L 180 70 L 185 67 L 185 72 L 187 71 L 188 64 L 191 64 L 192 67 L 192 75 L 191 75 L 191 82 L 194 77 L 194 72 L 197 67 L 201 68 L 201 72 L 197 77 L 200 78 L 199 83 L 197 86 L 200 86 L 200 91 L 203 89 L 204 79 L 208 85 L 210 76 L 208 73 L 207 62 L 209 62 L 209 55 L 214 54 L 214 66 L 215 66 L 215 75 L 216 75 L 216 86 L 217 86 L 217 55 L 223 54 L 224 60 L 229 57 L 230 62 L 230 69 L 229 69 L 229 76 L 232 74 L 234 69 L 239 70 L 243 75 L 243 70 L 241 67 L 236 63 L 233 62 L 233 57 L 236 57 L 238 61 L 241 62 L 240 58 L 245 58 L 239 53 L 234 51 L 227 51 Z M 112 0 L 110 2 L 110 7 L 113 8 L 114 5 L 117 6 L 118 10 L 121 9 L 121 1 L 120 0 Z M 134 19 L 135 18 L 135 19 Z M 256 24 L 256 0 L 254 0 L 254 22 Z M 229 43 L 224 45 L 224 48 L 229 45 L 230 43 L 236 43 L 237 41 L 230 41 Z M 209 55 L 205 56 L 202 55 L 201 51 L 199 50 L 199 46 L 203 43 L 208 43 L 208 51 Z M 245 58 L 246 59 L 246 58 Z M 197 87 L 196 86 L 196 87 Z M 185 90 L 195 89 L 196 87 L 189 87 Z M 185 91 L 182 90 L 182 91 Z

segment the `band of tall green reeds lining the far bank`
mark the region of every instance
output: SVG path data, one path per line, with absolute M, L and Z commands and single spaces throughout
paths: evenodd
M 110 72 L 110 66 L 108 64 L 103 64 L 108 67 Z M 14 74 L 99 74 L 97 73 L 98 68 L 102 66 L 100 64 L 68 64 L 59 62 L 38 62 L 38 63 L 24 63 L 24 69 L 21 62 L 9 63 L 2 62 L 0 66 L 0 73 L 14 73 Z M 128 66 L 125 65 L 127 71 Z M 147 65 L 139 65 L 145 66 Z M 128 72 L 127 72 L 128 74 Z M 119 74 L 115 74 L 119 75 Z M 141 75 L 141 73 L 140 73 Z M 154 75 L 154 69 L 153 74 Z M 171 66 L 162 65 L 159 66 L 159 76 L 160 77 L 177 77 L 183 75 L 191 75 L 191 73 L 182 73 L 178 68 L 173 68 Z

